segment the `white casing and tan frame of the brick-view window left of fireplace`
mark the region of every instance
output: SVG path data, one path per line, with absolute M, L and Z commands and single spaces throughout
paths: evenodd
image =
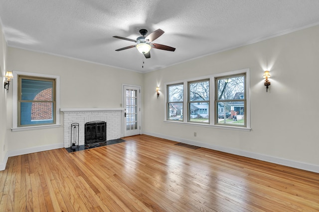
M 56 128 L 60 127 L 60 76 L 58 75 L 49 75 L 41 73 L 32 73 L 24 71 L 12 71 L 13 72 L 13 96 L 12 96 L 12 131 L 24 131 L 24 130 L 34 130 L 34 129 L 43 129 L 43 128 Z M 18 118 L 19 107 L 18 107 L 18 92 L 19 92 L 19 76 L 25 76 L 28 78 L 37 78 L 37 79 L 53 79 L 55 80 L 55 106 L 53 109 L 53 117 L 55 121 L 52 124 L 36 124 L 36 125 L 19 125 Z M 54 89 L 54 88 L 53 88 Z

